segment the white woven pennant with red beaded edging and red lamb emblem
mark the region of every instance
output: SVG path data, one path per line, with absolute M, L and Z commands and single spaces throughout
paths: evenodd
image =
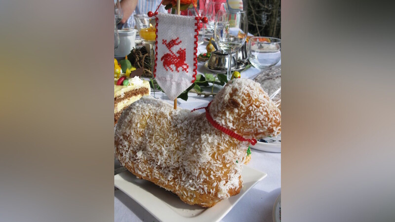
M 174 100 L 196 79 L 197 22 L 194 16 L 158 13 L 155 79 Z

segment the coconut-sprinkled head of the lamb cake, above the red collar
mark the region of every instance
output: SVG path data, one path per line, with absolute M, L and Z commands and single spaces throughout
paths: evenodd
M 245 78 L 229 81 L 210 105 L 213 119 L 246 138 L 276 136 L 281 112 L 259 83 Z

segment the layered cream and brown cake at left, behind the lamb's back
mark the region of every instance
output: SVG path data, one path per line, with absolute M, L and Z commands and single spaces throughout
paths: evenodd
M 118 83 L 118 84 L 117 84 Z M 126 78 L 121 76 L 114 79 L 114 125 L 122 111 L 130 104 L 139 100 L 144 95 L 150 95 L 150 83 L 140 79 L 138 76 Z

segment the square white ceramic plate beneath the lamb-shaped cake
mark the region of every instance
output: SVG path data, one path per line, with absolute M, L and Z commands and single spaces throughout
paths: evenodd
M 241 197 L 266 173 L 243 166 L 243 187 L 240 193 L 222 200 L 211 208 L 186 204 L 175 194 L 146 180 L 137 179 L 129 171 L 114 176 L 114 185 L 122 190 L 161 222 L 218 222 L 236 205 Z

